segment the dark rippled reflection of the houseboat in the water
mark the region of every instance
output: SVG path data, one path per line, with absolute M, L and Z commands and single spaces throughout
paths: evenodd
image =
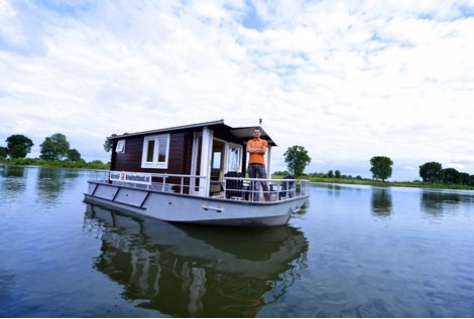
M 88 204 L 85 229 L 102 240 L 94 267 L 123 297 L 173 317 L 253 317 L 306 268 L 307 240 L 290 226 L 175 225 Z

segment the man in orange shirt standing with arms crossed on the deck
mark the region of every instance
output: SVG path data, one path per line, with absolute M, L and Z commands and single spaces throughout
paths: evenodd
M 260 129 L 253 129 L 253 138 L 247 142 L 247 152 L 249 153 L 249 166 L 247 172 L 250 178 L 267 178 L 265 170 L 265 153 L 267 152 L 268 143 L 266 140 L 260 138 Z M 263 195 L 265 200 L 270 200 L 268 193 L 268 185 L 266 182 L 261 182 Z M 255 185 L 252 182 L 252 185 Z M 254 187 L 252 187 L 254 189 Z

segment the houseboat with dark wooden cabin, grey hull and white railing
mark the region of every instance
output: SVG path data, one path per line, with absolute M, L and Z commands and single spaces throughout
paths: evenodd
M 217 120 L 109 137 L 111 169 L 88 181 L 84 200 L 168 222 L 285 225 L 308 204 L 309 182 L 246 177 L 245 148 L 255 127 L 268 142 L 271 176 L 276 143 L 267 132 Z

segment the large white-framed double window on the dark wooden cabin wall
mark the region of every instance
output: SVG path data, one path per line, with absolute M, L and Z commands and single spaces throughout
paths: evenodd
M 142 168 L 168 168 L 169 134 L 145 137 Z

